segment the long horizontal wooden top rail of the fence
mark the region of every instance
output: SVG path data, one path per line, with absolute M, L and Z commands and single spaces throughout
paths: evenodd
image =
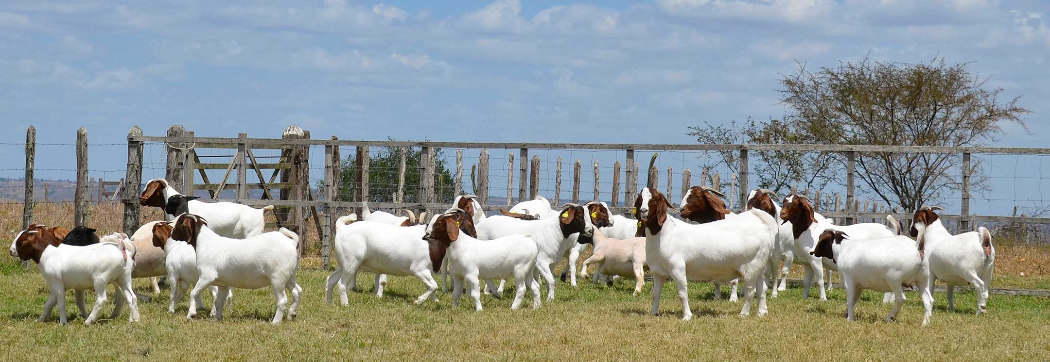
M 813 152 L 912 152 L 912 153 L 1012 153 L 1050 154 L 1050 148 L 1030 147 L 951 147 L 951 146 L 877 146 L 877 145 L 702 145 L 702 144 L 554 144 L 498 142 L 412 142 L 364 140 L 288 140 L 233 137 L 167 137 L 129 136 L 133 142 L 167 142 L 196 144 L 201 148 L 236 148 L 245 143 L 256 149 L 282 149 L 289 146 L 370 146 L 370 147 L 436 147 L 436 148 L 502 148 L 502 149 L 574 149 L 574 150 L 637 150 L 637 151 L 813 151 Z

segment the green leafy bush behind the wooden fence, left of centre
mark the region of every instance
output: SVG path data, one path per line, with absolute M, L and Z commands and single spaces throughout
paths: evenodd
M 443 152 L 439 148 L 432 149 L 436 152 L 437 167 L 434 171 L 434 192 L 438 203 L 452 203 L 456 195 L 462 193 L 454 190 L 453 170 L 446 167 L 443 159 Z M 394 194 L 397 192 L 398 173 L 401 168 L 401 149 L 399 148 L 373 148 L 369 157 L 369 200 L 378 203 L 394 201 Z M 404 203 L 419 203 L 419 149 L 408 148 L 405 150 L 405 172 L 404 172 Z M 357 157 L 349 155 L 342 162 L 339 170 L 339 200 L 353 200 L 357 190 Z

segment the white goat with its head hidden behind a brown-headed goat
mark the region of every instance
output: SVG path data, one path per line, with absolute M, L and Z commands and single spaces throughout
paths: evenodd
M 416 299 L 416 304 L 427 298 L 437 300 L 435 292 L 438 282 L 430 270 L 428 246 L 423 239 L 425 226 L 399 227 L 387 223 L 357 221 L 351 216 L 336 220 L 335 259 L 336 270 L 328 277 L 324 302 L 332 302 L 332 290 L 339 286 L 339 301 L 348 305 L 346 283 L 357 278 L 358 270 L 379 275 L 415 276 L 426 286 L 426 292 Z M 472 232 L 472 229 L 471 229 Z M 438 265 L 440 265 L 438 260 Z M 377 295 L 382 297 L 382 289 L 377 282 Z

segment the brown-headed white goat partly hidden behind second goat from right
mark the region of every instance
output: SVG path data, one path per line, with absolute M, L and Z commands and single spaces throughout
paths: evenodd
M 792 236 L 795 238 L 795 260 L 805 267 L 805 276 L 802 286 L 802 298 L 810 297 L 810 286 L 816 279 L 820 289 L 820 300 L 827 300 L 826 289 L 824 288 L 824 269 L 838 271 L 838 267 L 831 259 L 821 259 L 811 252 L 816 248 L 820 234 L 827 229 L 842 231 L 852 235 L 855 239 L 876 239 L 897 235 L 901 229 L 900 223 L 891 215 L 886 215 L 886 220 L 891 227 L 886 227 L 877 222 L 863 222 L 850 226 L 837 226 L 827 219 L 818 219 L 813 211 L 810 198 L 804 195 L 792 195 L 791 201 L 780 209 L 780 218 L 790 221 L 792 225 Z M 831 278 L 827 278 L 831 283 Z

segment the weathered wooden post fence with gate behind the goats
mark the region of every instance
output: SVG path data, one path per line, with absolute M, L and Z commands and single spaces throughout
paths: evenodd
M 36 146 L 35 129 L 29 128 L 26 134 L 26 205 L 25 218 L 26 226 L 33 218 L 33 168 L 34 150 Z M 496 211 L 500 208 L 507 208 L 514 201 L 531 199 L 540 195 L 540 156 L 533 154 L 529 157 L 530 150 L 618 150 L 624 151 L 624 159 L 617 159 L 612 165 L 612 193 L 603 195 L 600 185 L 601 172 L 597 172 L 600 164 L 594 161 L 591 166 L 593 172 L 593 190 L 591 195 L 582 195 L 581 173 L 584 165 L 580 161 L 572 164 L 572 185 L 571 199 L 562 200 L 562 169 L 563 159 L 558 157 L 554 172 L 554 204 L 563 201 L 586 201 L 589 199 L 605 199 L 610 201 L 613 212 L 627 213 L 630 210 L 629 203 L 633 201 L 638 191 L 639 163 L 635 161 L 635 154 L 639 151 L 722 151 L 734 152 L 738 155 L 739 162 L 736 174 L 729 174 L 730 179 L 722 180 L 721 175 L 708 174 L 707 170 L 701 171 L 700 186 L 712 186 L 721 189 L 728 185 L 730 197 L 728 200 L 731 209 L 739 210 L 746 204 L 748 192 L 754 187 L 749 179 L 749 155 L 752 151 L 801 151 L 801 152 L 836 152 L 841 153 L 846 158 L 845 172 L 845 193 L 828 194 L 820 190 L 793 190 L 810 195 L 810 198 L 817 206 L 824 216 L 835 217 L 841 223 L 848 225 L 858 221 L 882 220 L 886 214 L 894 214 L 899 219 L 908 220 L 910 214 L 890 210 L 885 205 L 864 200 L 855 193 L 855 159 L 857 152 L 912 152 L 912 153 L 956 153 L 961 154 L 963 163 L 961 179 L 961 213 L 943 214 L 945 220 L 956 221 L 953 227 L 957 230 L 969 230 L 975 221 L 985 222 L 1018 222 L 1018 223 L 1050 223 L 1047 217 L 1017 217 L 1017 216 L 978 216 L 969 212 L 970 205 L 970 155 L 972 153 L 982 154 L 1050 154 L 1050 148 L 993 148 L 993 147 L 919 147 L 919 146 L 854 146 L 854 145 L 701 145 L 701 144 L 552 144 L 552 143 L 450 143 L 450 142 L 395 142 L 395 141 L 359 141 L 359 140 L 338 140 L 331 139 L 314 140 L 310 132 L 291 126 L 285 130 L 281 139 L 249 139 L 247 133 L 240 133 L 238 137 L 198 137 L 192 131 L 185 130 L 182 126 L 172 126 L 166 135 L 143 135 L 139 127 L 134 127 L 128 133 L 128 161 L 127 173 L 122 180 L 120 189 L 121 200 L 124 205 L 124 232 L 131 234 L 139 227 L 140 206 L 139 193 L 143 187 L 143 147 L 147 143 L 159 143 L 165 145 L 166 167 L 165 178 L 171 183 L 172 187 L 187 194 L 194 191 L 207 191 L 213 200 L 228 200 L 262 207 L 274 205 L 280 208 L 278 212 L 278 222 L 290 229 L 300 232 L 303 236 L 301 242 L 311 242 L 306 237 L 308 228 L 315 228 L 321 241 L 321 258 L 327 265 L 331 253 L 331 240 L 334 234 L 334 217 L 338 209 L 359 208 L 361 199 L 369 199 L 369 171 L 370 171 L 370 147 L 386 147 L 397 150 L 400 155 L 400 168 L 398 169 L 397 191 L 392 196 L 393 203 L 370 203 L 377 209 L 405 208 L 417 211 L 423 210 L 444 210 L 447 204 L 439 203 L 435 189 L 435 173 L 437 169 L 436 154 L 439 148 L 458 149 L 455 155 L 455 171 L 453 173 L 455 190 L 462 190 L 463 187 L 463 159 L 462 149 L 481 149 L 478 162 L 470 166 L 471 179 L 477 178 L 472 187 L 472 192 L 481 197 L 483 209 Z M 87 131 L 81 128 L 77 139 L 77 196 L 75 225 L 89 222 L 87 213 L 88 184 L 87 179 Z M 317 195 L 312 192 L 310 186 L 310 152 L 311 146 L 324 148 L 323 176 L 317 189 Z M 353 201 L 338 200 L 340 182 L 340 147 L 354 147 L 356 149 L 356 188 Z M 406 150 L 417 148 L 420 150 L 419 168 L 416 170 L 406 169 Z M 200 149 L 225 149 L 234 150 L 234 154 L 226 155 L 232 157 L 229 164 L 208 163 L 202 159 L 197 153 Z M 276 163 L 260 163 L 253 150 L 269 149 L 280 150 L 280 156 Z M 489 203 L 489 158 L 488 149 L 508 149 L 518 151 L 518 183 L 517 198 L 513 197 L 514 189 L 513 170 L 514 152 L 507 154 L 507 194 L 505 205 L 495 205 Z M 214 183 L 209 178 L 206 170 L 225 170 L 222 180 Z M 231 179 L 233 171 L 236 171 L 236 178 Z M 269 177 L 264 174 L 264 170 L 270 171 Z M 623 177 L 621 176 L 623 171 Z M 680 171 L 682 177 L 678 188 L 673 187 L 673 169 L 667 167 L 664 188 L 660 188 L 659 176 L 662 170 L 655 167 L 647 170 L 648 186 L 666 190 L 669 195 L 680 197 L 689 189 L 692 183 L 692 171 L 686 168 Z M 420 198 L 414 203 L 405 203 L 405 174 L 416 172 L 420 175 L 419 195 Z M 200 174 L 202 184 L 195 182 L 195 175 Z M 253 173 L 258 178 L 258 183 L 249 184 L 247 174 Z M 279 178 L 278 178 L 279 177 Z M 112 182 L 109 182 L 112 183 Z M 100 184 L 99 199 L 103 198 L 104 186 L 114 186 L 113 184 Z M 439 185 L 440 187 L 440 185 Z M 446 186 L 447 187 L 447 186 Z M 223 197 L 223 191 L 227 189 L 235 190 L 235 196 Z M 260 199 L 249 197 L 248 190 L 261 190 Z M 274 195 L 276 190 L 279 194 Z M 104 193 L 109 195 L 108 193 Z M 589 196 L 589 197 L 588 197 Z M 581 198 L 584 197 L 584 198 Z M 622 198 L 621 198 L 622 197 Z M 313 222 L 310 222 L 311 219 Z M 948 223 L 952 226 L 951 222 Z M 300 248 L 306 250 L 306 248 Z

